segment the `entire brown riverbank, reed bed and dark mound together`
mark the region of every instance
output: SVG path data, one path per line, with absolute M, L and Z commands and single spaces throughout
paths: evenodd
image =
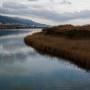
M 90 26 L 61 25 L 27 36 L 25 43 L 40 53 L 65 58 L 90 70 Z

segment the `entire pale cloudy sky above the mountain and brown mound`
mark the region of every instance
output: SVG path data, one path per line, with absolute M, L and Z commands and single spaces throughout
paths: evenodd
M 0 0 L 0 14 L 51 25 L 90 24 L 90 0 Z

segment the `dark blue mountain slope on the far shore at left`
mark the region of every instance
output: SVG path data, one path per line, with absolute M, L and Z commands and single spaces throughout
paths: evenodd
M 0 15 L 0 23 L 3 24 L 19 24 L 19 25 L 28 25 L 32 27 L 47 27 L 48 25 L 40 24 L 28 19 L 16 18 L 16 17 L 9 17 Z

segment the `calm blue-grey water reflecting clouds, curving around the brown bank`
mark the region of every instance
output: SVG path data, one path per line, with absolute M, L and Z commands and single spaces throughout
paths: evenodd
M 38 54 L 24 33 L 0 37 L 0 90 L 90 90 L 89 72 Z

